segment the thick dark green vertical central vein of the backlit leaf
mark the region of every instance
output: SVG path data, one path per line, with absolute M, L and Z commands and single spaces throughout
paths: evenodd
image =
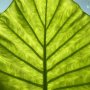
M 44 61 L 43 61 L 43 90 L 47 90 L 47 62 L 46 62 L 46 22 L 47 22 L 47 0 L 45 7 L 45 26 L 44 26 Z

